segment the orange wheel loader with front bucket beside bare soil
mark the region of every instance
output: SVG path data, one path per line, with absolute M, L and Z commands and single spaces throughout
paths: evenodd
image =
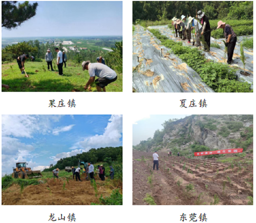
M 16 167 L 13 167 L 12 178 L 32 179 L 43 176 L 40 170 L 31 171 L 31 168 L 27 167 L 27 164 L 28 163 L 16 163 Z

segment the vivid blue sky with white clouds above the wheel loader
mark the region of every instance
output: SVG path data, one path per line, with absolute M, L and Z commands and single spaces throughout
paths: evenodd
M 16 162 L 42 170 L 91 148 L 123 144 L 122 115 L 2 115 L 2 175 Z

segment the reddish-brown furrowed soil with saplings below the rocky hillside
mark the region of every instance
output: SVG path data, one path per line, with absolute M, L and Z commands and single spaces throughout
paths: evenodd
M 158 171 L 153 171 L 152 154 L 133 151 L 133 205 L 146 205 L 147 193 L 157 205 L 247 205 L 253 196 L 252 154 L 220 163 L 159 152 Z

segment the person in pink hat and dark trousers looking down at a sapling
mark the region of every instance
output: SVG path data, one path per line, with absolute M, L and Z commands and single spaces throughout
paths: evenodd
M 219 28 L 223 29 L 223 33 L 226 38 L 226 44 L 228 45 L 227 63 L 231 64 L 233 62 L 232 57 L 236 46 L 236 33 L 230 25 L 226 24 L 226 22 L 222 22 L 221 20 L 218 22 L 217 29 Z

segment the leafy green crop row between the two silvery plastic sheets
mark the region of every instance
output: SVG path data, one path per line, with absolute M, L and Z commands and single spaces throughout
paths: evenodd
M 174 42 L 166 36 L 162 36 L 156 29 L 150 32 L 158 38 L 162 44 L 171 48 L 173 53 L 193 68 L 202 80 L 215 92 L 252 92 L 251 84 L 239 82 L 235 76 L 235 69 L 227 64 L 218 62 L 207 62 L 204 55 L 197 48 L 183 46 L 182 42 Z

